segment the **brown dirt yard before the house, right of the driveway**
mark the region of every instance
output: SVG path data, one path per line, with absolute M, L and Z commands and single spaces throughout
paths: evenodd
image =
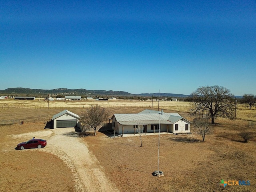
M 122 192 L 255 192 L 256 140 L 243 143 L 237 136 L 241 128 L 240 121 L 222 120 L 205 142 L 194 134 L 160 135 L 162 178 L 152 176 L 158 169 L 158 135 L 142 136 L 143 147 L 138 137 L 108 138 L 99 133 L 84 140 Z M 223 188 L 222 179 L 250 180 L 251 185 Z

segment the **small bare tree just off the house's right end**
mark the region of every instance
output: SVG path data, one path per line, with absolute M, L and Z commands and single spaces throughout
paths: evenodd
M 210 122 L 206 118 L 196 118 L 194 119 L 194 132 L 202 136 L 203 141 L 206 135 L 212 134 L 214 128 L 210 125 Z

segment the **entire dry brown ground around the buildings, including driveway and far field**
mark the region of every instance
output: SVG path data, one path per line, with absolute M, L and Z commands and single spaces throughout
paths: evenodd
M 152 101 L 56 101 L 0 100 L 0 191 L 26 192 L 255 192 L 256 138 L 242 142 L 238 133 L 256 134 L 256 109 L 237 108 L 237 119 L 216 119 L 214 133 L 205 142 L 193 133 L 109 137 L 107 132 L 81 137 L 74 128 L 45 129 L 46 122 L 64 109 L 79 114 L 91 104 L 109 107 L 114 113 L 138 113 Z M 190 121 L 188 102 L 159 103 L 164 112 L 179 112 Z M 158 110 L 158 102 L 153 103 Z M 151 108 L 152 109 L 152 108 Z M 24 124 L 21 124 L 24 121 Z M 108 121 L 106 121 L 108 123 Z M 41 149 L 15 150 L 32 137 L 47 140 Z M 249 181 L 250 185 L 220 186 L 224 181 Z

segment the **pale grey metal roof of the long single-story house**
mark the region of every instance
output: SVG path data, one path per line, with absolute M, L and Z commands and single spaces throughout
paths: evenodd
M 121 125 L 133 124 L 173 124 L 184 119 L 178 113 L 138 113 L 138 114 L 114 114 L 113 118 Z

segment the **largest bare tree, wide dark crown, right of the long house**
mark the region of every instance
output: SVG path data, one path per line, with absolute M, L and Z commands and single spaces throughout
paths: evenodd
M 207 114 L 212 124 L 217 116 L 234 118 L 235 105 L 230 90 L 222 86 L 202 86 L 192 92 L 190 114 Z

